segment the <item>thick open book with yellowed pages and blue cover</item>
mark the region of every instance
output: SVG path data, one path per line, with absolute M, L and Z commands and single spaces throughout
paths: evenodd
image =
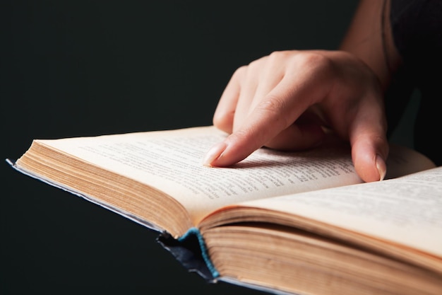
M 363 183 L 347 143 L 202 165 L 213 126 L 34 140 L 22 173 L 159 232 L 191 271 L 272 293 L 442 294 L 442 167 L 392 146 Z

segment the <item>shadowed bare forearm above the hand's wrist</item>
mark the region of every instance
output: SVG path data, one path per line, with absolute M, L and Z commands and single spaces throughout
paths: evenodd
M 340 50 L 362 59 L 385 90 L 400 65 L 390 27 L 390 0 L 361 0 Z

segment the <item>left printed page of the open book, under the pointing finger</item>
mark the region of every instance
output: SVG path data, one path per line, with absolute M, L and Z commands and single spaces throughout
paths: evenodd
M 195 127 L 40 142 L 162 190 L 188 209 L 194 224 L 227 204 L 361 183 L 341 142 L 299 153 L 260 149 L 232 168 L 203 166 L 205 153 L 225 136 Z

